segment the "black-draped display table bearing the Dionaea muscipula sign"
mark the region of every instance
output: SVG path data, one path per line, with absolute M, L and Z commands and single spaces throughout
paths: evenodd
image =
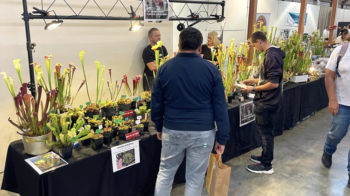
M 223 161 L 228 161 L 243 153 L 261 146 L 260 135 L 255 123 L 239 127 L 240 103 L 232 100 L 228 106 L 230 115 L 230 139 Z M 12 142 L 7 151 L 5 172 L 1 189 L 21 196 L 147 196 L 154 191 L 159 171 L 161 141 L 150 122 L 150 132 L 138 139 L 140 144 L 140 163 L 113 173 L 111 151 L 104 145 L 94 151 L 90 146 L 73 149 L 73 157 L 66 161 L 69 165 L 39 175 L 24 160 L 30 157 L 24 152 L 21 140 Z M 133 141 L 135 139 L 129 140 Z M 129 141 L 113 140 L 111 146 Z M 184 160 L 180 165 L 174 183 L 185 181 Z

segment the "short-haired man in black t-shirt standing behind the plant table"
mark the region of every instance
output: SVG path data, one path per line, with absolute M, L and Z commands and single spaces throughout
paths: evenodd
M 155 53 L 154 50 L 152 50 L 152 46 L 156 45 L 158 41 L 160 41 L 160 32 L 157 28 L 152 28 L 148 31 L 148 39 L 151 42 L 145 49 L 144 52 L 142 52 L 142 58 L 144 59 L 145 63 L 145 70 L 144 70 L 144 90 L 152 90 L 153 81 L 154 81 L 154 75 L 153 70 L 157 70 L 157 65 L 155 61 Z M 162 45 L 162 47 L 159 47 L 157 50 L 159 50 L 159 58 L 164 58 L 168 56 L 168 51 L 165 48 L 165 46 Z

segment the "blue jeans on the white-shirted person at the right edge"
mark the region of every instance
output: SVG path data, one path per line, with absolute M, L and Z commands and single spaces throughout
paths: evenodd
M 324 150 L 327 154 L 333 154 L 337 150 L 337 145 L 348 132 L 350 124 L 350 106 L 339 105 L 337 116 L 332 116 L 331 128 L 328 131 L 327 139 L 324 143 Z M 350 174 L 350 151 L 348 154 L 348 172 Z

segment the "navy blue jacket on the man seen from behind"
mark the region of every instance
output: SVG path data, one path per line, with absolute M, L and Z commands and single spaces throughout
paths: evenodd
M 217 142 L 229 138 L 229 115 L 221 74 L 196 53 L 180 52 L 159 67 L 152 89 L 151 117 L 158 132 L 209 131 L 218 127 Z

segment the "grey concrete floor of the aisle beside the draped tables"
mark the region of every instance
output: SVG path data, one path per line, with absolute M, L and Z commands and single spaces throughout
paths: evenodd
M 275 138 L 274 174 L 254 174 L 246 165 L 251 154 L 261 153 L 261 148 L 226 162 L 232 167 L 230 196 L 349 196 L 350 188 L 346 170 L 350 137 L 346 136 L 333 155 L 330 169 L 321 163 L 323 144 L 330 126 L 328 109 L 318 112 L 292 130 Z M 0 184 L 3 174 L 0 174 Z M 183 196 L 184 184 L 173 186 L 172 196 Z M 0 190 L 0 196 L 18 194 Z M 205 183 L 202 196 L 208 196 Z

